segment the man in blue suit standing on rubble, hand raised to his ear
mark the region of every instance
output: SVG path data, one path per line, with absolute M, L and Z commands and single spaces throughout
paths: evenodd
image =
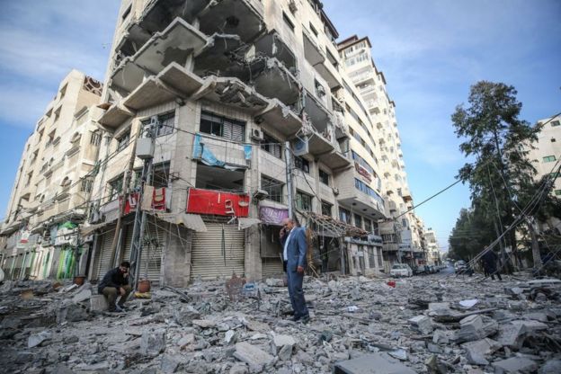
M 295 322 L 307 324 L 309 313 L 307 311 L 302 281 L 306 268 L 307 240 L 304 227 L 297 227 L 292 218 L 285 218 L 280 229 L 280 243 L 283 248 L 282 259 L 284 270 L 287 272 L 289 282 L 290 304 L 294 310 Z

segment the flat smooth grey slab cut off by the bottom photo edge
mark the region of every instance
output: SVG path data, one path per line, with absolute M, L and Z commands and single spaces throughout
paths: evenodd
M 383 353 L 366 354 L 358 359 L 334 364 L 334 374 L 414 374 L 415 371 Z

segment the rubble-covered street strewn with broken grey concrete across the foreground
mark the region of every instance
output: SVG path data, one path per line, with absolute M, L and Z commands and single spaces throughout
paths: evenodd
M 561 281 L 430 275 L 307 277 L 294 323 L 282 280 L 153 289 L 98 311 L 95 287 L 5 282 L 0 371 L 11 373 L 561 372 Z

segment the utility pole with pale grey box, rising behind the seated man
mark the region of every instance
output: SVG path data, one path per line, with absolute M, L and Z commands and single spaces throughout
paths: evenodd
M 132 244 L 130 247 L 130 273 L 132 274 L 132 285 L 138 289 L 138 278 L 140 274 L 140 259 L 142 258 L 142 245 L 144 241 L 144 227 L 147 221 L 146 210 L 141 209 L 144 196 L 144 187 L 149 185 L 152 178 L 152 165 L 154 160 L 154 148 L 156 145 L 157 117 L 150 119 L 147 136 L 138 138 L 137 156 L 144 159 L 142 176 L 140 178 L 140 189 L 138 191 L 137 211 L 135 212 L 134 227 L 132 230 Z

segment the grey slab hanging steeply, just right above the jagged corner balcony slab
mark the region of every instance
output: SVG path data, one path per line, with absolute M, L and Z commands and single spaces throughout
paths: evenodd
M 261 68 L 254 76 L 255 90 L 270 98 L 277 98 L 286 105 L 298 102 L 298 79 L 276 58 L 261 61 Z

